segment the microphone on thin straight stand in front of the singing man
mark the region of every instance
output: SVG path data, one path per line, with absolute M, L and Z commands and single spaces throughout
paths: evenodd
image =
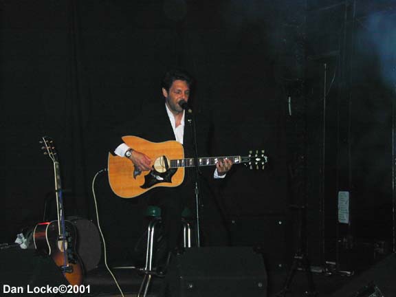
M 190 126 L 190 132 L 192 135 L 192 145 L 194 146 L 194 168 L 195 168 L 195 213 L 197 215 L 197 247 L 201 247 L 201 238 L 200 238 L 200 217 L 199 217 L 199 195 L 201 194 L 201 183 L 200 183 L 200 175 L 201 171 L 199 170 L 199 162 L 198 162 L 198 146 L 197 146 L 197 129 L 195 126 L 195 114 L 192 112 L 192 109 L 188 107 L 187 102 L 181 102 L 180 106 L 188 113 L 191 117 L 188 118 L 187 122 Z

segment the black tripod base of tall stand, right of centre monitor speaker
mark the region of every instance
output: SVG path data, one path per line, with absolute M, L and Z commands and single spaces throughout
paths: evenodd
M 305 206 L 292 205 L 291 208 L 298 209 L 298 245 L 297 252 L 294 254 L 292 267 L 290 267 L 287 273 L 285 285 L 280 292 L 276 294 L 276 297 L 285 297 L 289 291 L 289 286 L 292 284 L 294 274 L 299 268 L 305 271 L 305 276 L 308 281 L 308 291 L 305 292 L 305 296 L 317 296 L 314 280 L 311 274 L 311 267 L 309 267 L 309 259 L 307 257 L 307 238 L 306 238 L 306 223 L 305 223 Z

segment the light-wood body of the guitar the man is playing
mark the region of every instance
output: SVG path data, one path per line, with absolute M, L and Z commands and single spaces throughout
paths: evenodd
M 133 198 L 157 186 L 175 187 L 184 180 L 184 168 L 167 168 L 171 159 L 183 159 L 184 148 L 175 141 L 150 142 L 137 136 L 124 136 L 122 140 L 135 151 L 153 160 L 153 170 L 136 175 L 130 159 L 109 153 L 108 173 L 111 190 L 122 198 Z

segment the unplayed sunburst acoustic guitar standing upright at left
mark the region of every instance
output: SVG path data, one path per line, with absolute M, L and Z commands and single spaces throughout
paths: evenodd
M 56 152 L 54 141 L 49 137 L 43 137 L 41 143 L 43 144 L 44 154 L 49 155 L 54 164 L 58 220 L 36 225 L 33 233 L 34 247 L 39 252 L 52 257 L 70 285 L 81 285 L 83 283 L 84 270 L 82 262 L 76 253 L 76 228 L 72 222 L 65 220 L 63 212 L 58 153 Z

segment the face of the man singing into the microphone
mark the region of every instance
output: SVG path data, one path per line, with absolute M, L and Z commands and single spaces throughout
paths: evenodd
M 173 114 L 181 113 L 183 109 L 180 107 L 179 102 L 184 100 L 188 102 L 190 96 L 190 87 L 185 80 L 175 80 L 170 86 L 169 91 L 162 88 L 162 94 L 165 97 L 166 104 Z

